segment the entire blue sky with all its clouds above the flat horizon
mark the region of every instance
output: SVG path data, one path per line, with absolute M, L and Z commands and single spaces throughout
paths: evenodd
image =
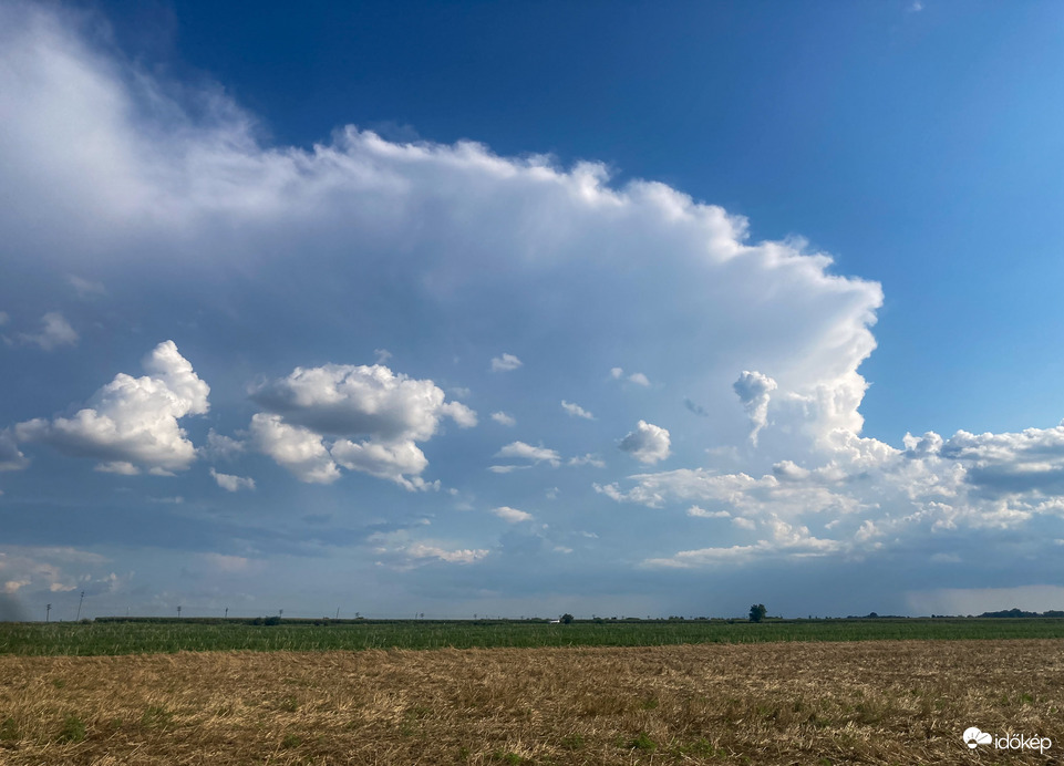
M 0 3 L 0 591 L 1064 607 L 1053 2 Z

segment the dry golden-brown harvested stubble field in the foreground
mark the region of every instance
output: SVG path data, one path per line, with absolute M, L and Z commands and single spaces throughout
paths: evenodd
M 4 764 L 1050 764 L 1060 641 L 0 656 Z M 969 726 L 1053 739 L 968 749 Z

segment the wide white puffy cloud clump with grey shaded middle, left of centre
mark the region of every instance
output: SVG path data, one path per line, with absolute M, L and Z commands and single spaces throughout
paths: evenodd
M 477 423 L 475 412 L 446 402 L 431 380 L 381 364 L 296 368 L 256 387 L 251 398 L 270 411 L 252 418 L 258 448 L 313 483 L 335 480 L 339 465 L 410 490 L 438 487 L 420 476 L 428 460 L 416 442 L 430 439 L 445 417 L 462 428 Z M 335 437 L 330 446 L 327 437 Z

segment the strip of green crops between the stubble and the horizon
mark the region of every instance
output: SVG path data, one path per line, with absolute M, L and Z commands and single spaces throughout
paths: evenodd
M 265 620 L 264 620 L 265 622 Z M 272 620 L 271 620 L 272 622 Z M 1062 619 L 744 621 L 96 620 L 0 623 L 0 654 L 107 655 L 179 651 L 359 651 L 496 646 L 658 646 L 766 641 L 1062 639 Z

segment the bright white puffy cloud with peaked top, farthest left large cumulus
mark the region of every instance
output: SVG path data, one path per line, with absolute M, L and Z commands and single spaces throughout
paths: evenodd
M 141 468 L 166 474 L 196 459 L 178 420 L 202 415 L 210 387 L 193 371 L 174 341 L 164 341 L 144 360 L 148 375 L 118 373 L 72 417 L 19 423 L 20 442 L 43 442 L 75 457 L 101 460 L 101 470 L 133 474 Z

